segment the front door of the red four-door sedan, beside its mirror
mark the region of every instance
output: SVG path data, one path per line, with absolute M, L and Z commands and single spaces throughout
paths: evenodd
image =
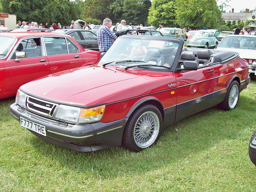
M 4 61 L 5 92 L 16 91 L 21 85 L 49 74 L 48 58 L 42 54 L 41 44 L 40 37 L 24 38 L 16 44 Z M 16 59 L 15 52 L 25 52 L 26 57 Z

